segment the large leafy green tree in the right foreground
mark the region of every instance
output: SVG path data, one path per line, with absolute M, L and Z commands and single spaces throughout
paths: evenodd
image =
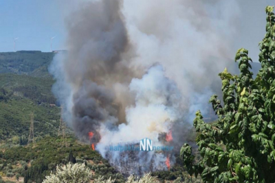
M 266 34 L 259 47 L 261 70 L 252 78 L 251 58 L 239 49 L 239 75 L 225 69 L 222 80 L 223 104 L 212 95 L 210 103 L 219 117 L 204 123 L 196 113 L 194 126 L 201 158 L 194 162 L 192 147 L 181 147 L 188 173 L 201 174 L 203 182 L 275 182 L 275 16 L 267 6 Z

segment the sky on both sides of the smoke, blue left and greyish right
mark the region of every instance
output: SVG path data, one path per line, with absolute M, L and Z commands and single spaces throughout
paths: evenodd
M 52 36 L 56 36 L 53 40 L 53 49 L 66 49 L 64 19 L 76 8 L 78 2 L 1 0 L 0 51 L 13 51 L 13 38 L 17 37 L 17 50 L 50 51 Z M 265 6 L 275 5 L 275 1 L 241 0 L 239 3 L 241 14 L 234 49 L 245 47 L 256 61 L 259 53 L 257 46 L 265 34 Z

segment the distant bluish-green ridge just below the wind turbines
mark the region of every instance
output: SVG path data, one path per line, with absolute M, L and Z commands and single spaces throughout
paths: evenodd
M 41 51 L 2 52 L 0 53 L 0 73 L 50 77 L 47 68 L 54 54 Z

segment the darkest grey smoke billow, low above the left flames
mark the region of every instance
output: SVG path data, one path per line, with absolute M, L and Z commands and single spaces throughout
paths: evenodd
M 109 123 L 110 128 L 118 122 L 118 108 L 113 105 L 113 95 L 103 86 L 91 81 L 83 82 L 83 87 L 74 94 L 73 127 L 80 138 L 88 138 L 94 132 L 94 143 L 100 141 L 101 123 Z

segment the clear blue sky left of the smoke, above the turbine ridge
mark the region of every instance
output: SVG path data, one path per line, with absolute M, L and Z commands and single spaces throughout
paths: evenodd
M 69 1 L 68 1 L 69 2 Z M 16 50 L 50 51 L 65 49 L 65 26 L 67 14 L 65 1 L 56 0 L 1 0 L 0 1 L 0 51 L 13 51 L 13 38 L 19 37 Z

